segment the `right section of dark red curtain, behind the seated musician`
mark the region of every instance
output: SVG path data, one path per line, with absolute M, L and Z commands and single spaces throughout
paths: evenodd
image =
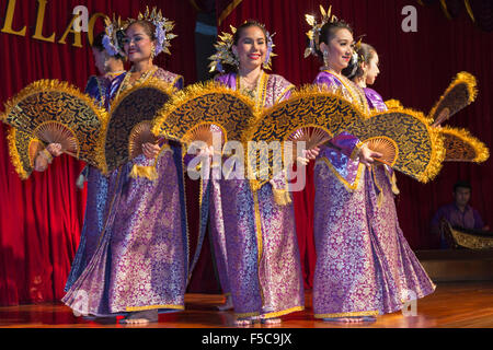
M 492 144 L 493 34 L 478 28 L 467 11 L 449 21 L 438 2 L 422 7 L 408 0 L 243 0 L 221 22 L 219 32 L 229 31 L 230 24 L 239 26 L 248 19 L 265 23 L 271 33 L 276 33 L 274 42 L 278 57 L 274 58 L 273 72 L 297 85 L 311 83 L 320 63 L 313 57 L 303 59 L 305 33 L 309 30 L 305 13 L 319 14 L 319 4 L 325 9 L 332 4 L 333 14 L 349 22 L 356 36 L 365 34 L 364 40 L 376 47 L 381 73 L 374 89 L 385 100 L 397 98 L 406 107 L 428 113 L 457 72 L 465 70 L 475 75 L 477 101 L 454 116 L 449 125 L 466 127 L 486 144 Z M 410 4 L 417 13 L 415 33 L 404 33 L 401 27 L 406 16 L 402 9 Z M 411 247 L 437 247 L 437 242 L 428 234 L 429 221 L 439 206 L 451 201 L 452 185 L 458 178 L 471 182 L 471 205 L 491 224 L 492 175 L 491 160 L 482 165 L 447 163 L 438 177 L 425 185 L 399 174 L 401 195 L 397 198 L 397 208 L 401 229 Z M 298 207 L 303 206 L 303 200 L 312 199 L 312 195 L 299 197 L 295 197 Z M 316 257 L 310 220 L 303 215 L 303 211 L 297 210 L 306 285 L 310 287 Z

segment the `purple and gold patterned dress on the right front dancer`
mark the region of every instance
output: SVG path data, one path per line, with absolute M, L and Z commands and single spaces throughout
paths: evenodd
M 369 104 L 379 105 L 377 100 L 367 102 L 343 77 L 323 71 L 314 83 L 341 88 L 367 112 Z M 314 317 L 397 312 L 435 285 L 399 228 L 388 172 L 359 164 L 354 151 L 360 142 L 351 135 L 343 132 L 331 143 L 336 148 L 322 148 L 314 167 Z

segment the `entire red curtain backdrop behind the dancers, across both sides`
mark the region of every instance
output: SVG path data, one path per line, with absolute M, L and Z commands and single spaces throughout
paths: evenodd
M 3 28 L 7 8 L 12 1 L 0 0 L 0 28 Z M 0 102 L 38 79 L 59 79 L 83 89 L 88 77 L 95 73 L 85 34 L 82 34 L 83 48 L 71 45 L 72 34 L 68 35 L 67 45 L 32 38 L 38 2 L 16 1 L 13 30 L 26 26 L 25 36 L 0 32 L 0 67 L 4 68 Z M 230 3 L 233 5 L 228 8 Z M 229 24 L 238 26 L 246 19 L 257 19 L 271 32 L 276 32 L 275 50 L 279 56 L 274 58 L 273 72 L 297 85 L 311 83 L 319 63 L 314 58 L 302 58 L 308 31 L 305 13 L 318 13 L 319 3 L 314 0 L 217 1 L 221 10 L 217 11 L 218 16 L 229 13 L 219 31 L 229 31 Z M 165 16 L 175 21 L 174 32 L 179 37 L 172 42 L 173 56 L 161 56 L 158 65 L 183 74 L 187 84 L 195 81 L 195 9 L 202 8 L 202 1 L 48 0 L 43 35 L 50 36 L 55 32 L 58 42 L 70 23 L 72 9 L 80 4 L 88 7 L 90 15 L 115 12 L 123 19 L 136 16 L 146 4 L 161 8 Z M 323 4 L 326 8 L 329 2 Z M 452 21 L 447 20 L 438 3 L 422 7 L 404 0 L 333 0 L 330 4 L 337 16 L 353 24 L 357 35 L 366 34 L 365 40 L 377 48 L 381 74 L 374 88 L 386 100 L 398 98 L 405 106 L 428 112 L 457 72 L 466 70 L 474 74 L 479 81 L 479 96 L 450 124 L 470 129 L 491 144 L 492 33 L 479 30 L 467 11 L 459 12 Z M 401 11 L 409 4 L 417 10 L 416 33 L 401 30 L 404 19 Z M 96 28 L 102 28 L 101 21 Z M 7 127 L 0 125 L 0 305 L 59 300 L 83 221 L 85 194 L 74 186 L 83 164 L 61 156 L 47 172 L 33 174 L 28 180 L 21 182 L 9 160 L 5 131 Z M 451 186 L 459 177 L 472 183 L 471 203 L 488 223 L 492 223 L 493 208 L 488 202 L 492 194 L 491 164 L 491 161 L 483 165 L 446 164 L 439 176 L 426 185 L 398 176 L 400 224 L 414 249 L 436 247 L 436 242 L 428 235 L 429 220 L 440 205 L 451 200 Z M 188 186 L 193 189 L 187 196 L 192 207 L 197 188 L 194 189 L 193 184 Z M 312 194 L 305 199 L 298 195 L 295 200 L 311 198 Z M 190 210 L 188 214 L 193 240 L 197 229 L 196 210 Z M 308 218 L 311 213 L 297 211 L 297 233 L 309 288 L 316 256 Z M 210 278 L 214 272 L 209 243 L 205 242 L 204 247 L 192 280 L 194 291 L 217 288 Z

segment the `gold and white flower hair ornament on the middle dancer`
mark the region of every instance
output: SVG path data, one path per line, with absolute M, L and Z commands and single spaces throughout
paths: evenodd
M 263 24 L 260 25 L 265 30 L 265 26 Z M 230 28 L 231 33 L 222 32 L 222 34 L 219 35 L 219 40 L 216 43 L 216 45 L 214 45 L 214 47 L 216 48 L 216 54 L 209 57 L 209 60 L 211 61 L 209 63 L 210 68 L 209 72 L 219 71 L 223 73 L 225 65 L 233 66 L 237 68 L 240 65 L 238 57 L 232 51 L 232 46 L 234 44 L 233 43 L 234 34 L 237 33 L 237 28 L 233 27 L 232 25 L 230 25 Z M 274 56 L 277 56 L 276 54 L 273 52 L 275 47 L 273 37 L 275 33 L 272 35 L 271 33 L 268 33 L 268 31 L 265 31 L 265 33 L 267 38 L 267 55 L 265 56 L 265 61 L 262 63 L 262 66 L 264 69 L 270 70 L 272 65 L 272 58 Z

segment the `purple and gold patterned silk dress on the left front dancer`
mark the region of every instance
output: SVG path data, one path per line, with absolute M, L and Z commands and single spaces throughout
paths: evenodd
M 181 77 L 163 69 L 142 75 L 136 84 L 150 75 L 183 86 Z M 129 88 L 124 80 L 119 93 Z M 188 236 L 181 148 L 163 145 L 154 182 L 130 178 L 134 164 L 152 165 L 153 160 L 139 155 L 110 174 L 107 214 L 98 247 L 62 299 L 74 313 L 108 316 L 184 308 Z

